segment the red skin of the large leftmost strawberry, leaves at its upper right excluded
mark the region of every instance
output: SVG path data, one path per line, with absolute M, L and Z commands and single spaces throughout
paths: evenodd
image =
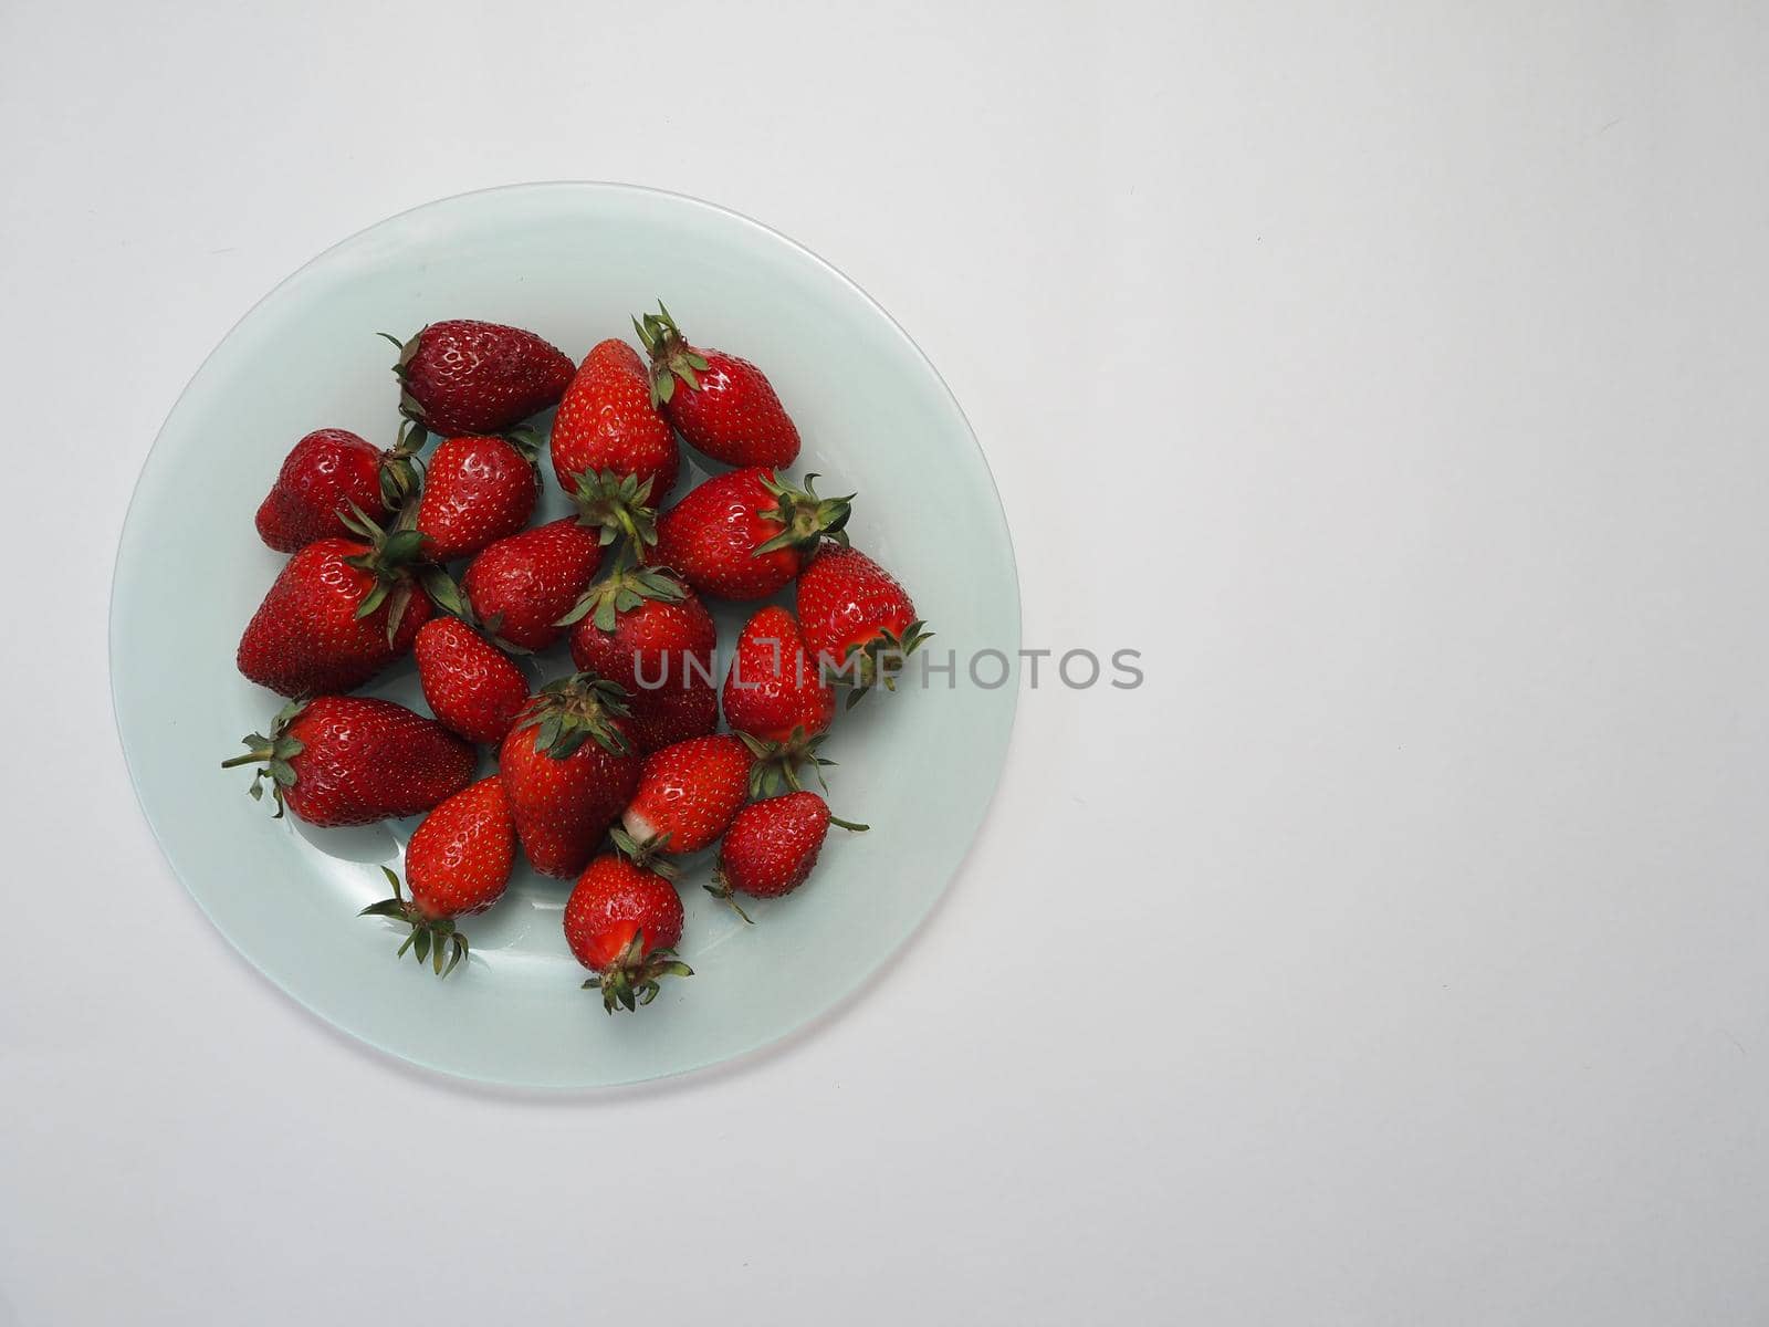
M 318 540 L 290 557 L 246 625 L 239 671 L 281 695 L 348 692 L 410 649 L 430 621 L 430 600 L 416 589 L 409 594 L 389 644 L 393 594 L 366 617 L 356 616 L 375 577 L 345 559 L 368 552 L 354 540 Z

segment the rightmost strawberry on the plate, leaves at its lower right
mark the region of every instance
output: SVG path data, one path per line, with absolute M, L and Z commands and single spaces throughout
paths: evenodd
M 849 706 L 877 683 L 895 690 L 902 662 L 932 635 L 897 577 L 858 548 L 819 548 L 798 573 L 796 591 L 805 644 L 839 683 L 853 687 Z

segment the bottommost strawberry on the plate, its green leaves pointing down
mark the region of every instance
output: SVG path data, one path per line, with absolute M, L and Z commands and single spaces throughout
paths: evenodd
M 676 961 L 681 943 L 681 899 L 663 876 L 603 853 L 578 876 L 564 904 L 564 938 L 594 977 L 584 989 L 601 991 L 601 1007 L 649 1005 L 662 977 L 693 977 Z

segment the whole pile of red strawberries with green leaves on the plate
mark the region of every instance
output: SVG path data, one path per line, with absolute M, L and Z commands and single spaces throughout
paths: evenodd
M 662 304 L 633 329 L 647 357 L 607 340 L 573 366 L 518 327 L 433 322 L 394 341 L 394 448 L 338 428 L 295 444 L 257 522 L 292 556 L 239 642 L 241 672 L 292 699 L 226 761 L 310 825 L 428 812 L 403 888 L 387 871 L 393 895 L 364 913 L 407 925 L 400 954 L 439 975 L 518 851 L 575 879 L 564 940 L 609 1012 L 690 975 L 679 858 L 718 844 L 706 888 L 738 908 L 803 885 L 830 825 L 867 828 L 800 773 L 830 764 L 839 690 L 890 688 L 925 639 L 849 545 L 851 495 L 784 476 L 798 428 L 762 372 L 690 345 Z M 577 511 L 531 527 L 545 479 L 524 421 L 555 405 L 550 471 Z M 678 435 L 734 469 L 658 511 Z M 755 612 L 720 687 L 702 600 L 787 586 L 796 614 Z M 577 671 L 531 688 L 527 656 L 561 640 Z M 350 695 L 407 655 L 433 718 Z M 476 747 L 497 763 L 478 780 Z

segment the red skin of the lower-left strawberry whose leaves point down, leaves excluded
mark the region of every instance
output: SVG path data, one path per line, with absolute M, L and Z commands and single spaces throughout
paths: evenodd
M 483 913 L 504 895 L 515 865 L 517 825 L 497 775 L 439 805 L 405 844 L 405 885 L 430 918 Z

